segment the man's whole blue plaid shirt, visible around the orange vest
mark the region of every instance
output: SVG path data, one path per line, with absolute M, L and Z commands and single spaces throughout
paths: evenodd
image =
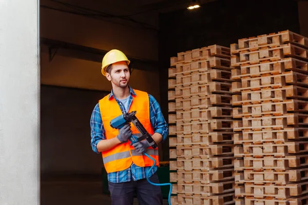
M 130 95 L 129 95 L 129 107 L 131 105 L 131 102 L 133 100 L 132 95 L 137 96 L 136 93 L 133 91 L 132 88 L 130 89 Z M 109 95 L 109 99 L 111 97 L 114 97 L 113 92 L 111 90 L 111 93 Z M 122 104 L 120 104 L 119 100 L 114 97 L 115 100 L 117 100 L 122 113 L 125 112 L 125 108 Z M 161 112 L 161 108 L 156 101 L 156 99 L 149 95 L 149 104 L 150 104 L 150 122 L 153 128 L 154 132 L 160 133 L 163 136 L 163 140 L 166 139 L 168 135 L 168 125 L 167 122 L 164 119 L 164 116 Z M 97 150 L 97 145 L 99 141 L 106 139 L 105 138 L 105 130 L 103 126 L 103 121 L 101 117 L 101 111 L 99 108 L 99 104 L 97 104 L 94 107 L 94 110 L 91 115 L 91 121 L 90 121 L 90 126 L 91 126 L 91 146 L 92 150 L 95 153 L 99 153 Z M 131 164 L 129 168 L 123 171 L 119 172 L 112 172 L 107 174 L 108 181 L 113 182 L 113 183 L 120 183 L 120 182 L 126 182 L 126 181 L 131 181 L 131 180 L 139 180 L 139 179 L 144 179 L 146 178 L 146 175 L 148 171 L 150 170 L 150 167 L 138 167 L 134 163 Z M 157 171 L 157 167 L 154 167 L 151 170 L 150 176 L 152 176 L 155 172 Z

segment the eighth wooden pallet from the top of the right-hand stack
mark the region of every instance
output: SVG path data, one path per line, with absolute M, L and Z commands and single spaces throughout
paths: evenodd
M 260 131 L 243 131 L 234 135 L 234 143 L 262 144 L 264 142 L 284 143 L 290 140 L 308 138 L 308 128 L 284 128 L 282 130 L 263 129 Z

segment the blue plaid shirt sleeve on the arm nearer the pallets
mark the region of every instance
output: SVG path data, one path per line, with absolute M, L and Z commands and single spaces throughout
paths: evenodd
M 167 122 L 163 116 L 158 101 L 152 95 L 148 95 L 150 103 L 150 121 L 153 127 L 153 131 L 161 134 L 164 141 L 167 138 L 169 132 Z

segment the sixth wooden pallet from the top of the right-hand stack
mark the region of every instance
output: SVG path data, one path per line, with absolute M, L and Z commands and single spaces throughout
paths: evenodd
M 242 118 L 262 115 L 284 115 L 290 112 L 308 112 L 308 101 L 291 99 L 282 102 L 269 101 L 262 104 L 243 105 L 242 108 L 233 108 L 232 116 L 234 118 Z

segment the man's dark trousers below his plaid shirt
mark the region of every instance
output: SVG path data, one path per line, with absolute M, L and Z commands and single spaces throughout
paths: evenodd
M 159 183 L 157 174 L 152 175 L 149 180 Z M 146 178 L 137 181 L 122 183 L 108 182 L 111 194 L 112 205 L 131 205 L 133 204 L 134 193 L 137 193 L 139 204 L 142 205 L 162 205 L 163 196 L 160 186 L 151 185 Z

